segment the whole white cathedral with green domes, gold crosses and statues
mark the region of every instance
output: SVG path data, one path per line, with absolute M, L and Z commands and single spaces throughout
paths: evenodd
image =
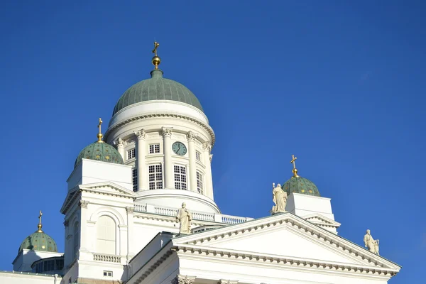
M 400 271 L 369 230 L 365 247 L 339 236 L 331 199 L 298 175 L 295 155 L 293 175 L 271 186 L 270 215 L 223 214 L 214 131 L 195 94 L 163 77 L 158 47 L 151 78 L 124 92 L 77 155 L 60 209 L 64 251 L 40 212 L 0 283 L 379 284 Z

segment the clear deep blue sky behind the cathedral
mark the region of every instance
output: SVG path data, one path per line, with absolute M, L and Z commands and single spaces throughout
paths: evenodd
M 75 158 L 132 84 L 164 76 L 200 99 L 222 212 L 264 217 L 297 168 L 332 198 L 339 234 L 420 283 L 426 257 L 422 1 L 4 1 L 0 9 L 0 269 L 59 209 Z M 87 3 L 89 2 L 89 3 Z M 285 240 L 284 243 L 285 244 Z M 421 279 L 421 280 L 420 280 Z

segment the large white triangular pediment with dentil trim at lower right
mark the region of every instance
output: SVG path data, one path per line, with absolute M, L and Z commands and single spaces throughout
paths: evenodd
M 176 238 L 173 244 L 200 246 L 208 251 L 233 251 L 246 256 L 399 271 L 395 263 L 291 213 Z

